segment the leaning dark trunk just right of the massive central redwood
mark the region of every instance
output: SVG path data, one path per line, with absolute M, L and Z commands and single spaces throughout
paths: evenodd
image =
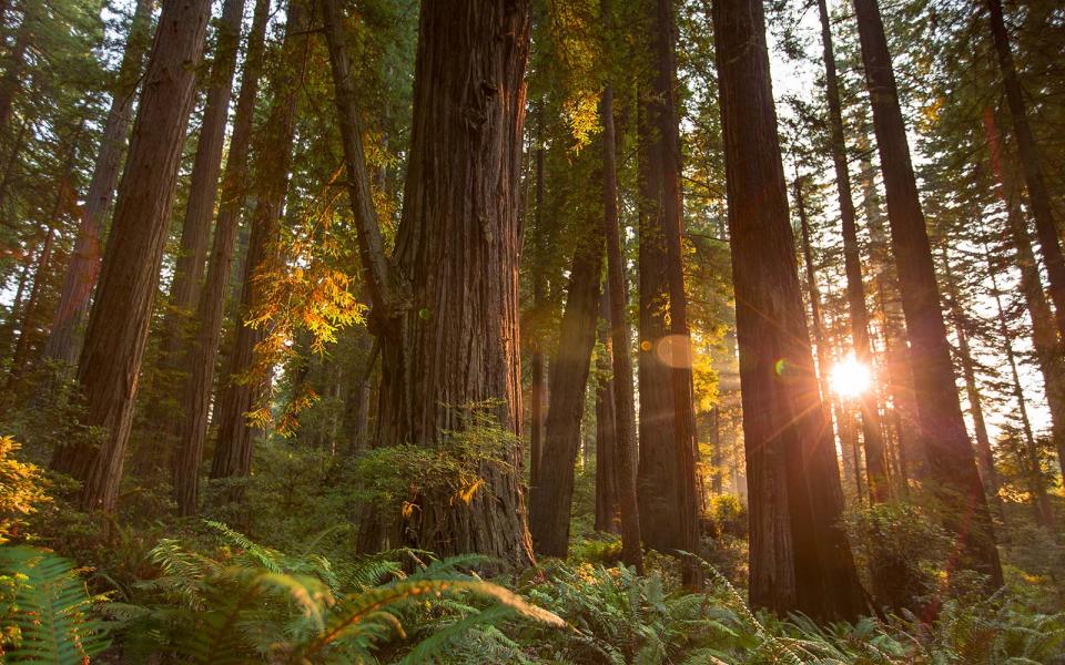
M 574 464 L 580 447 L 580 421 L 591 351 L 599 316 L 599 277 L 602 274 L 602 225 L 589 219 L 574 249 L 566 311 L 551 359 L 547 421 L 540 473 L 530 488 L 529 533 L 538 554 L 566 556 L 574 498 Z

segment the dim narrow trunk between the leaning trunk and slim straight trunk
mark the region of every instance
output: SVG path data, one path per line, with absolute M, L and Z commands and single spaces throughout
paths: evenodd
M 608 277 L 609 279 L 609 277 Z M 596 531 L 618 532 L 617 431 L 613 398 L 613 349 L 610 340 L 610 285 L 599 298 L 599 345 L 596 357 Z

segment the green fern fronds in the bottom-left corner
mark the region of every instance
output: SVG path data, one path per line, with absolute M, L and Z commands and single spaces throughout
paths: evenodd
M 90 617 L 92 597 L 73 564 L 28 546 L 0 548 L 0 653 L 19 663 L 83 663 L 109 644 L 106 626 Z

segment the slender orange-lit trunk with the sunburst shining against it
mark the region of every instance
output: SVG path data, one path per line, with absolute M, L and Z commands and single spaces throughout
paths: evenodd
M 824 48 L 825 92 L 829 101 L 829 125 L 832 132 L 832 163 L 839 190 L 840 223 L 843 232 L 843 263 L 846 272 L 846 301 L 851 315 L 851 341 L 854 358 L 873 371 L 869 340 L 869 311 L 865 308 L 865 285 L 862 282 L 861 255 L 858 246 L 858 225 L 854 222 L 854 202 L 851 196 L 851 174 L 846 166 L 846 143 L 843 134 L 843 111 L 840 104 L 840 83 L 835 73 L 832 30 L 825 0 L 818 0 L 821 17 L 821 42 Z M 888 499 L 888 454 L 881 432 L 876 382 L 858 396 L 862 413 L 862 434 L 865 444 L 865 464 L 869 471 L 870 500 Z

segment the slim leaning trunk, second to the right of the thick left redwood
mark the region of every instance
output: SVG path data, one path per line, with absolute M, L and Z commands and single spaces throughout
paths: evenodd
M 195 316 L 195 337 L 185 350 L 184 367 L 189 371 L 181 393 L 181 420 L 178 428 L 178 451 L 174 464 L 174 499 L 178 513 L 195 514 L 200 503 L 200 464 L 207 436 L 207 411 L 211 388 L 214 385 L 215 364 L 225 315 L 225 290 L 233 263 L 236 231 L 247 198 L 247 161 L 258 98 L 258 81 L 263 71 L 266 22 L 270 0 L 255 0 L 255 14 L 247 38 L 247 53 L 241 94 L 233 117 L 230 153 L 222 176 L 222 196 L 219 219 L 214 229 L 214 246 L 207 267 L 207 278 L 200 296 Z M 275 84 L 282 96 L 283 86 Z M 282 101 L 275 102 L 283 105 Z

